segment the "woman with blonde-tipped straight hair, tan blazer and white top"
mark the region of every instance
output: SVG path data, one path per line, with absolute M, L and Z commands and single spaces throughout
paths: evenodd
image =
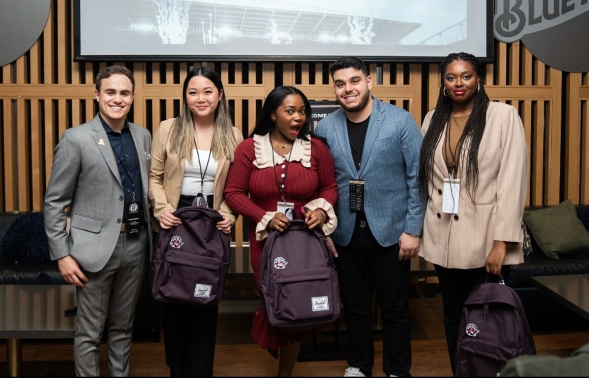
M 149 199 L 154 229 L 181 223 L 173 213 L 193 200 L 223 215 L 217 228 L 229 234 L 236 216 L 224 204 L 223 189 L 237 144 L 219 74 L 193 68 L 184 79 L 180 117 L 161 122 L 151 145 Z M 217 306 L 162 303 L 164 347 L 171 376 L 212 376 Z

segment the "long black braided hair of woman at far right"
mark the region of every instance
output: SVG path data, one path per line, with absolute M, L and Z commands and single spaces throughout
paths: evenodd
M 462 164 L 458 165 L 458 169 L 461 172 L 461 179 L 464 183 L 464 187 L 468 196 L 474 201 L 474 195 L 477 193 L 478 187 L 478 151 L 479 145 L 483 132 L 485 131 L 485 125 L 487 124 L 487 107 L 489 106 L 489 97 L 485 92 L 485 86 L 482 83 L 483 68 L 481 62 L 472 54 L 466 52 L 458 52 L 449 54 L 441 64 L 442 72 L 442 85 L 440 86 L 438 102 L 436 104 L 434 115 L 429 122 L 429 128 L 423 137 L 421 145 L 421 155 L 419 156 L 419 185 L 421 187 L 423 197 L 427 198 L 428 193 L 428 181 L 433 175 L 434 156 L 436 147 L 442 138 L 442 132 L 444 127 L 448 124 L 452 114 L 452 100 L 450 97 L 444 95 L 444 77 L 448 65 L 454 61 L 465 61 L 477 73 L 479 78 L 479 88 L 477 94 L 474 96 L 474 104 L 472 107 L 471 115 L 469 115 L 464 131 L 460 139 L 456 150 L 458 156 L 456 160 L 465 162 L 465 166 Z M 461 159 L 462 146 L 466 143 L 468 147 L 465 159 Z

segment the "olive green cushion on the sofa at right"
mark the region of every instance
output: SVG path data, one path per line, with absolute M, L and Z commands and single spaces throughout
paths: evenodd
M 524 222 L 542 252 L 550 258 L 589 252 L 589 232 L 571 200 L 557 206 L 524 211 Z

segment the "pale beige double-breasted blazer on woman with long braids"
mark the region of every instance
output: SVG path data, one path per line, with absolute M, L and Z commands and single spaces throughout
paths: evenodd
M 434 111 L 423 120 L 422 135 L 428 131 Z M 429 200 L 423 221 L 419 256 L 446 268 L 485 266 L 494 240 L 508 244 L 504 264 L 519 264 L 522 254 L 524 214 L 528 188 L 528 148 L 524 127 L 511 105 L 491 102 L 487 126 L 478 155 L 478 189 L 471 201 L 461 181 L 458 214 L 442 213 L 442 189 L 448 168 L 442 155 L 445 132 L 436 147 Z M 466 152 L 461 154 L 464 167 Z

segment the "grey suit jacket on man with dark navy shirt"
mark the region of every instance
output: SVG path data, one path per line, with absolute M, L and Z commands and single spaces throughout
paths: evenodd
M 145 224 L 149 224 L 147 183 L 151 135 L 138 125 L 129 123 L 129 127 L 141 168 Z M 65 213 L 68 206 L 69 234 Z M 123 184 L 117 161 L 96 115 L 92 121 L 64 131 L 55 147 L 44 207 L 52 260 L 71 255 L 83 269 L 101 270 L 117 244 L 123 209 Z M 151 228 L 145 228 L 142 232 L 150 233 L 151 241 Z

